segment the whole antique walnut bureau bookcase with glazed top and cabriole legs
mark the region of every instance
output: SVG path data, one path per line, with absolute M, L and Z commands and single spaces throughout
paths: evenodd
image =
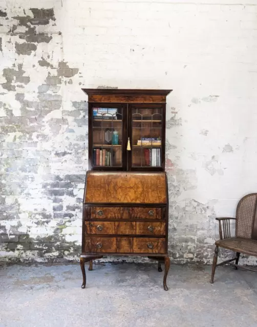
M 142 255 L 169 269 L 165 107 L 172 90 L 82 89 L 89 102 L 89 171 L 80 266 Z

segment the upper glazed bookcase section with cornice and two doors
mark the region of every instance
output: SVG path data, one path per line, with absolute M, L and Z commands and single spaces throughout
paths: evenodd
M 82 89 L 89 102 L 89 169 L 164 171 L 172 90 Z

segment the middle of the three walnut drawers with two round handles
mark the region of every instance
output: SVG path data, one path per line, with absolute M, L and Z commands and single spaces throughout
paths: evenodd
M 85 232 L 99 235 L 165 235 L 165 222 L 86 221 Z

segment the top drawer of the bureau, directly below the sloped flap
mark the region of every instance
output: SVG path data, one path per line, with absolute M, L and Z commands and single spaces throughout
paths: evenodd
M 161 219 L 161 208 L 91 207 L 91 219 Z

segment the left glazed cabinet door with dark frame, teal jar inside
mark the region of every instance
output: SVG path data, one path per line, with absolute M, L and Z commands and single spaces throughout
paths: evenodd
M 89 104 L 89 169 L 127 170 L 127 105 Z

